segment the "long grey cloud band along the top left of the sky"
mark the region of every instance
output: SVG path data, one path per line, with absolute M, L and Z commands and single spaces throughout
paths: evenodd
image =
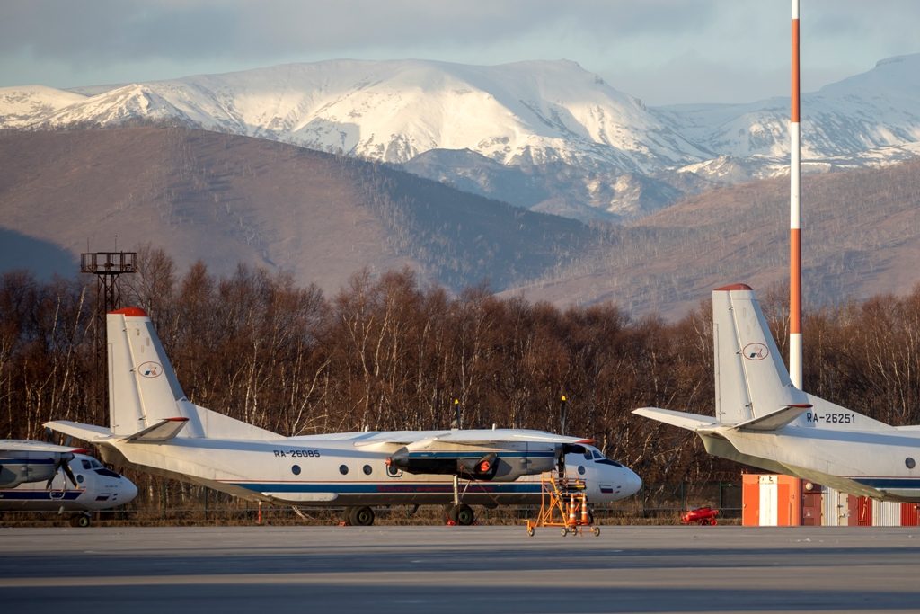
M 270 58 L 440 44 L 500 44 L 577 29 L 592 37 L 685 28 L 702 13 L 678 0 L 337 0 L 336 2 L 23 1 L 0 5 L 0 53 L 112 62 Z M 661 18 L 661 16 L 667 18 Z

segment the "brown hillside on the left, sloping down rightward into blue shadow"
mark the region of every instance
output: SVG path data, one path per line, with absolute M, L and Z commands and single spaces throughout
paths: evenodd
M 590 234 L 377 164 L 184 128 L 4 133 L 0 168 L 7 233 L 75 255 L 118 235 L 120 249 L 150 241 L 182 268 L 246 262 L 327 292 L 365 265 L 406 264 L 454 289 L 503 289 L 567 263 Z

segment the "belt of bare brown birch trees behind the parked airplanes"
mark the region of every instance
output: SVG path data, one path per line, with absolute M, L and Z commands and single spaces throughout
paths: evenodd
M 459 400 L 465 428 L 560 428 L 597 441 L 646 481 L 730 479 L 693 435 L 634 416 L 657 406 L 713 414 L 708 301 L 683 319 L 632 318 L 611 303 L 559 309 L 453 295 L 409 270 L 357 272 L 334 296 L 286 273 L 239 266 L 187 272 L 139 252 L 122 307 L 150 315 L 188 398 L 285 435 L 441 429 Z M 90 283 L 91 282 L 91 283 Z M 40 439 L 42 423 L 108 424 L 97 402 L 95 279 L 0 278 L 0 437 Z M 788 295 L 760 292 L 785 353 Z M 805 389 L 900 425 L 920 422 L 920 286 L 807 308 Z M 102 363 L 104 365 L 104 362 Z

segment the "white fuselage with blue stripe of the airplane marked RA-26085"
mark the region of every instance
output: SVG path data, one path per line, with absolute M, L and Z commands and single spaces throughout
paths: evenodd
M 436 435 L 443 432 L 432 432 Z M 387 466 L 397 446 L 375 444 L 393 434 L 352 433 L 279 437 L 267 441 L 176 437 L 166 443 L 99 446 L 112 464 L 193 481 L 249 500 L 304 505 L 448 504 L 454 500 L 452 475 L 409 473 Z M 424 437 L 427 433 L 413 433 Z M 566 467 L 585 482 L 592 504 L 638 490 L 635 473 L 603 458 L 594 448 L 569 454 Z M 556 446 L 534 442 L 484 446 L 426 447 L 414 458 L 482 458 L 495 453 L 498 470 L 490 480 L 461 480 L 467 504 L 539 504 L 540 475 L 556 465 Z M 593 455 L 600 458 L 593 458 Z M 586 458 L 586 455 L 592 458 Z

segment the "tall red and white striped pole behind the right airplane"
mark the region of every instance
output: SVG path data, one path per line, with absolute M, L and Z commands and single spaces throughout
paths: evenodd
M 802 388 L 802 262 L 799 182 L 799 0 L 792 0 L 792 122 L 789 124 L 789 377 Z

